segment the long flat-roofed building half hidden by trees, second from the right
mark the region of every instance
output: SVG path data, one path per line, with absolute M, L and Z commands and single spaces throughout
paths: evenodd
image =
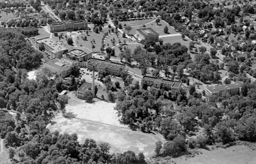
M 143 76 L 147 86 L 154 86 L 155 88 L 166 87 L 171 91 L 177 91 L 181 87 L 181 82 L 168 80 L 162 77 Z

